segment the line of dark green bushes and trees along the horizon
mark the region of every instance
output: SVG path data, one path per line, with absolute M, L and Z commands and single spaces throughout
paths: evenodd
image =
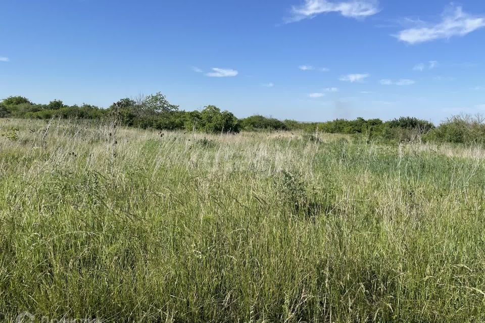
M 206 133 L 238 133 L 244 131 L 325 132 L 360 135 L 367 140 L 414 141 L 425 140 L 454 143 L 484 143 L 484 119 L 460 115 L 438 126 L 414 117 L 390 121 L 357 118 L 327 122 L 298 122 L 278 120 L 261 115 L 238 119 L 229 111 L 207 105 L 202 111 L 183 111 L 158 92 L 138 98 L 122 98 L 107 109 L 91 105 L 66 105 L 61 100 L 37 104 L 23 96 L 9 96 L 0 102 L 0 118 L 27 119 L 91 119 L 106 120 L 116 114 L 122 125 L 143 129 L 185 130 Z

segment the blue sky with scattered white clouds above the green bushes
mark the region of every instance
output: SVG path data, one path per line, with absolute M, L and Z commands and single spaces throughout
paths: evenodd
M 485 1 L 4 0 L 0 98 L 238 117 L 485 113 Z

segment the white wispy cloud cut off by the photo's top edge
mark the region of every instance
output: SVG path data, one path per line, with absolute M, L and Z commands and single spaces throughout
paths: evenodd
M 286 23 L 311 19 L 317 15 L 337 12 L 344 17 L 364 18 L 379 12 L 377 0 L 348 0 L 344 2 L 330 2 L 328 0 L 305 0 L 305 4 L 292 8 L 293 17 L 286 19 Z

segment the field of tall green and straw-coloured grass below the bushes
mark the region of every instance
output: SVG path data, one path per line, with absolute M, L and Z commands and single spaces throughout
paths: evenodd
M 57 120 L 0 134 L 0 320 L 485 321 L 480 147 Z

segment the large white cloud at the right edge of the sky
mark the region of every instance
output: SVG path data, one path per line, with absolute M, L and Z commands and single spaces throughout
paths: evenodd
M 425 26 L 402 30 L 396 37 L 409 44 L 417 44 L 436 39 L 448 39 L 453 36 L 465 36 L 485 27 L 485 16 L 472 16 L 463 12 L 461 7 L 451 7 L 442 15 L 441 22 L 425 23 Z

